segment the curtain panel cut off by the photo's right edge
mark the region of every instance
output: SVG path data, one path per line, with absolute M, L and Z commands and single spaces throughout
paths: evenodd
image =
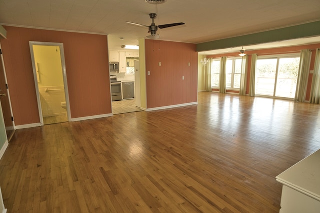
M 310 103 L 320 104 L 320 48 L 316 49 L 312 77 Z

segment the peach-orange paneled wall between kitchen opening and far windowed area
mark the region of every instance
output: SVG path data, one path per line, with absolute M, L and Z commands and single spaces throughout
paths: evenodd
M 147 108 L 197 101 L 195 49 L 190 43 L 145 40 L 145 71 L 150 71 L 146 74 Z

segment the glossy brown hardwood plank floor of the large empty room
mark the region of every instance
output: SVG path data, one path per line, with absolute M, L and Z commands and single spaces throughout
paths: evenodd
M 320 148 L 320 105 L 200 92 L 198 104 L 19 129 L 8 213 L 276 213 L 275 176 Z

